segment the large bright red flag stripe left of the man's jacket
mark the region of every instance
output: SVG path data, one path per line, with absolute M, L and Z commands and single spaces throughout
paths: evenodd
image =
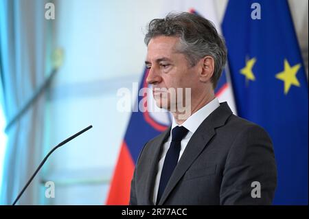
M 134 166 L 128 146 L 123 141 L 106 205 L 128 205 L 130 200 L 130 182 Z

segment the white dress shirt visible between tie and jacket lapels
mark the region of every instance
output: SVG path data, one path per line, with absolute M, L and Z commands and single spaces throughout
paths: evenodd
M 185 147 L 187 146 L 187 143 L 190 141 L 196 129 L 198 129 L 198 126 L 200 126 L 202 122 L 208 117 L 208 115 L 212 113 L 216 108 L 218 108 L 218 106 L 220 106 L 219 101 L 217 98 L 215 98 L 214 100 L 211 100 L 211 102 L 200 108 L 198 111 L 193 113 L 189 118 L 187 118 L 187 120 L 185 120 L 185 122 L 183 122 L 181 126 L 187 128 L 187 130 L 189 131 L 187 132 L 187 135 L 185 135 L 185 137 L 181 140 L 181 151 L 179 153 L 179 159 L 181 159 L 181 155 L 183 154 Z M 172 141 L 172 129 L 176 126 L 178 126 L 178 124 L 176 123 L 173 117 L 172 128 L 170 130 L 170 137 L 168 137 L 168 140 L 165 141 L 165 143 L 163 144 L 163 152 L 161 153 L 161 157 L 158 163 L 158 172 L 155 178 L 155 188 L 152 196 L 153 203 L 157 202 L 157 194 L 159 189 L 163 163 L 165 155 L 168 152 L 168 148 L 170 148 L 170 142 Z

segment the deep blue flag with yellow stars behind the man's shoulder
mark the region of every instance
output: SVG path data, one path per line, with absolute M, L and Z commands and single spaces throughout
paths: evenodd
M 222 32 L 238 115 L 273 140 L 273 203 L 308 205 L 308 82 L 288 3 L 230 0 Z

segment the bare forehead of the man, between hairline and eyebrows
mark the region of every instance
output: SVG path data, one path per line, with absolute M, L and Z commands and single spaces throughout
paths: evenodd
M 176 53 L 176 45 L 179 42 L 177 36 L 157 36 L 148 43 L 147 59 L 159 56 L 169 57 Z

